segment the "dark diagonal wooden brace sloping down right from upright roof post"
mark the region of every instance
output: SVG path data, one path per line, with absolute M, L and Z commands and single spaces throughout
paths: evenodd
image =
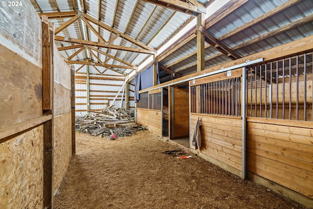
M 207 43 L 215 47 L 217 50 L 221 51 L 227 57 L 231 58 L 232 60 L 241 58 L 241 56 L 237 52 L 230 49 L 223 42 L 219 41 L 216 37 L 214 37 L 213 34 L 205 30 L 204 27 L 199 27 L 198 30 L 200 30 L 201 33 L 205 36 L 205 41 Z

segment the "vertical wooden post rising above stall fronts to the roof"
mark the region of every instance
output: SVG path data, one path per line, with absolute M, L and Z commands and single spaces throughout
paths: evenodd
M 205 25 L 205 14 L 197 16 L 197 28 Z M 197 30 L 197 71 L 204 70 L 204 35 L 200 30 Z

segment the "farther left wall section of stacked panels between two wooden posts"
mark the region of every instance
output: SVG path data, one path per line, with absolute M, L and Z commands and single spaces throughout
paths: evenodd
M 71 71 L 54 47 L 53 101 L 53 193 L 57 191 L 72 155 L 71 130 Z

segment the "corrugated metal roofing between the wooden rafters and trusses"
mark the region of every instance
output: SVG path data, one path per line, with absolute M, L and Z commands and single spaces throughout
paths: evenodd
M 289 3 L 293 3 L 282 9 L 275 11 L 277 8 L 284 7 Z M 312 0 L 248 0 L 237 9 L 229 11 L 231 5 L 240 3 L 241 0 L 230 0 L 229 3 L 219 10 L 220 13 L 226 14 L 224 18 L 218 22 L 214 22 L 214 17 L 209 17 L 212 20 L 206 30 L 213 34 L 224 45 L 234 50 L 240 56 L 246 56 L 252 53 L 279 46 L 303 37 L 313 35 L 313 1 Z M 72 0 L 31 0 L 34 8 L 38 13 L 49 12 L 68 12 L 78 11 L 79 6 L 73 5 Z M 84 2 L 84 5 L 82 5 Z M 78 0 L 74 3 L 80 3 L 81 8 L 84 8 L 84 14 L 112 27 L 108 30 L 103 26 L 98 26 L 95 23 L 89 22 L 96 31 L 105 39 L 110 41 L 113 37 L 116 38 L 116 31 L 120 33 L 110 44 L 115 46 L 125 46 L 137 49 L 143 49 L 143 46 L 128 40 L 130 37 L 142 45 L 151 48 L 159 48 L 164 45 L 169 38 L 182 28 L 186 22 L 193 17 L 165 8 L 144 0 Z M 38 4 L 38 6 L 37 6 Z M 227 6 L 230 6 L 229 8 Z M 272 15 L 268 15 L 273 12 Z M 215 13 L 213 15 L 219 15 Z M 260 19 L 264 15 L 267 18 Z M 51 19 L 58 27 L 72 16 L 65 18 Z M 258 21 L 255 21 L 258 20 Z M 255 21 L 248 27 L 245 25 Z M 84 32 L 87 32 L 89 41 L 98 42 L 96 34 L 83 21 L 78 19 L 69 25 L 58 36 L 71 37 L 74 39 L 84 39 Z M 83 28 L 84 27 L 84 28 Z M 243 27 L 237 31 L 239 27 Z M 114 31 L 115 30 L 115 31 Z M 126 36 L 124 36 L 124 35 Z M 100 42 L 101 43 L 101 42 Z M 207 43 L 205 43 L 207 45 Z M 56 41 L 57 47 L 75 45 L 67 42 Z M 103 55 L 99 52 L 93 53 L 105 64 L 121 65 L 124 63 L 118 59 L 130 63 L 134 66 L 139 66 L 143 63 L 150 54 L 138 53 L 134 51 L 119 50 L 114 48 L 96 47 L 101 51 L 110 54 L 115 59 Z M 61 50 L 61 54 L 67 59 L 79 48 Z M 190 74 L 197 71 L 197 41 L 192 39 L 185 43 L 176 51 L 168 54 L 159 61 L 162 66 L 169 66 L 173 72 L 177 71 L 180 75 Z M 89 56 L 89 57 L 88 57 Z M 99 62 L 96 57 L 90 55 L 87 49 L 84 49 L 71 60 L 86 60 L 92 59 L 92 62 Z M 162 56 L 159 55 L 160 57 Z M 184 58 L 185 59 L 182 59 Z M 176 63 L 178 60 L 179 63 Z M 205 49 L 205 68 L 216 66 L 218 64 L 228 62 L 231 58 L 227 57 L 223 52 L 219 51 L 214 46 L 206 47 Z M 130 73 L 133 69 L 115 69 L 120 72 Z M 160 72 L 161 81 L 172 79 L 172 75 L 162 71 Z

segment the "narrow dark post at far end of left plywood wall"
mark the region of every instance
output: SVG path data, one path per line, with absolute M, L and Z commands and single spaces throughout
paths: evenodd
M 75 138 L 75 66 L 71 66 L 70 71 L 70 105 L 72 118 L 72 155 L 76 154 L 76 138 Z

